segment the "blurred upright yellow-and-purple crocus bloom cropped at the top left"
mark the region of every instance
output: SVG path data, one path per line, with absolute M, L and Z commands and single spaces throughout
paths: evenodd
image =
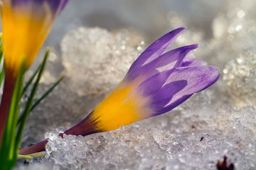
M 31 66 L 51 26 L 68 0 L 2 0 L 3 52 L 6 71 L 17 75 L 22 62 Z

